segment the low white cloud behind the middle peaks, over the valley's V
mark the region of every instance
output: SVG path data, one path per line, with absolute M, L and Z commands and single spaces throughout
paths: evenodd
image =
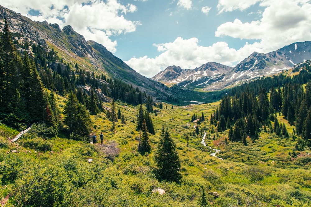
M 183 39 L 179 37 L 171 43 L 154 44 L 157 50 L 162 52 L 155 58 L 133 57 L 125 62 L 138 73 L 152 77 L 169 65 L 194 69 L 207 62 L 219 62 L 232 66 L 232 62 L 244 55 L 242 52 L 230 48 L 225 42 L 217 42 L 209 47 L 200 46 L 198 43 L 197 38 Z

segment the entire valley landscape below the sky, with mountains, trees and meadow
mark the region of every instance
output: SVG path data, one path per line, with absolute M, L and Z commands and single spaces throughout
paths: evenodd
M 149 79 L 69 25 L 0 31 L 1 207 L 311 206 L 311 42 Z

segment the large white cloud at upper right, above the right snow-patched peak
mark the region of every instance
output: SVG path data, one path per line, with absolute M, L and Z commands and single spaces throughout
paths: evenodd
M 311 4 L 283 0 L 262 2 L 267 8 L 258 21 L 239 19 L 220 25 L 216 37 L 256 39 L 254 51 L 270 52 L 293 42 L 311 40 Z M 280 41 L 281 40 L 281 41 Z M 252 45 L 248 45 L 252 47 Z

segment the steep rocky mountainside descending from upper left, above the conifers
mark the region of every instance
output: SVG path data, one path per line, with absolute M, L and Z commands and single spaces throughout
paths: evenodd
M 92 40 L 86 41 L 70 25 L 61 30 L 58 24 L 32 21 L 0 6 L 0 31 L 4 27 L 4 19 L 7 19 L 9 29 L 15 36 L 22 36 L 19 41 L 27 41 L 29 45 L 34 43 L 43 45 L 47 51 L 53 48 L 66 62 L 73 65 L 78 63 L 84 70 L 98 75 L 105 74 L 113 79 L 121 79 L 154 97 L 165 99 L 167 96 L 174 96 L 171 89 L 137 73 L 103 45 Z M 24 49 L 19 48 L 17 44 L 16 48 L 21 53 L 24 52 Z

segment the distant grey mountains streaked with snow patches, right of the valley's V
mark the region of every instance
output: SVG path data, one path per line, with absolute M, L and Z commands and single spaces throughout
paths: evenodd
M 234 68 L 219 63 L 207 63 L 193 70 L 170 66 L 152 79 L 169 85 L 176 84 L 180 88 L 203 88 L 214 91 L 264 75 L 280 73 L 309 59 L 311 59 L 311 42 L 293 43 L 266 54 L 253 52 Z

